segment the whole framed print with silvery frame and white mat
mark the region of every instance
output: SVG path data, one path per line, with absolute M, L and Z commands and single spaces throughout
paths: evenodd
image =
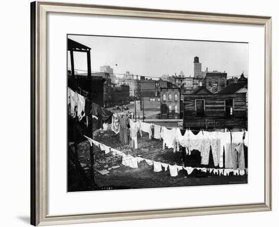
M 31 3 L 32 225 L 269 211 L 270 126 L 271 17 Z

